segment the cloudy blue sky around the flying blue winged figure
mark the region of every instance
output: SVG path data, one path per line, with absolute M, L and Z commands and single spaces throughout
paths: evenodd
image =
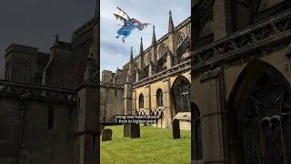
M 143 31 L 135 29 L 131 36 L 116 39 L 116 31 L 123 22 L 114 17 L 116 6 L 143 23 L 151 23 L 156 27 L 156 39 L 166 35 L 168 13 L 172 11 L 175 26 L 191 15 L 190 0 L 101 0 L 100 2 L 100 69 L 101 71 L 122 68 L 130 57 L 130 46 L 134 47 L 134 56 L 138 55 L 140 37 L 143 37 L 144 50 L 151 45 L 153 26 Z

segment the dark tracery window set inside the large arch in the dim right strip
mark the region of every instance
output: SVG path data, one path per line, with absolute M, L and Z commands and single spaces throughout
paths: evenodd
M 246 160 L 284 163 L 281 134 L 281 99 L 285 88 L 276 77 L 265 73 L 256 82 L 245 115 Z M 263 153 L 261 153 L 263 152 Z

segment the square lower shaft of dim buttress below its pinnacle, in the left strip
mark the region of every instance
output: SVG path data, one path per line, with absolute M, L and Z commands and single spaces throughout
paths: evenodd
M 99 163 L 99 88 L 91 85 L 80 87 L 77 92 L 79 108 L 76 112 L 74 164 Z

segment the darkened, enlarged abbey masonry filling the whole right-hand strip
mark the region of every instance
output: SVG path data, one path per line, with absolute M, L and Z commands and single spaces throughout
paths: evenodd
M 192 7 L 193 163 L 291 163 L 291 1 Z

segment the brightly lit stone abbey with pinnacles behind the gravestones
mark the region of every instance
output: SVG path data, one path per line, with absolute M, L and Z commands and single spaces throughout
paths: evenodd
M 178 118 L 181 128 L 191 129 L 190 17 L 174 26 L 170 11 L 167 34 L 157 40 L 155 30 L 152 45 L 144 49 L 141 38 L 139 55 L 131 49 L 122 69 L 102 72 L 102 84 L 111 88 L 101 87 L 101 122 L 115 122 L 116 114 L 155 114 L 156 127 L 172 127 Z

